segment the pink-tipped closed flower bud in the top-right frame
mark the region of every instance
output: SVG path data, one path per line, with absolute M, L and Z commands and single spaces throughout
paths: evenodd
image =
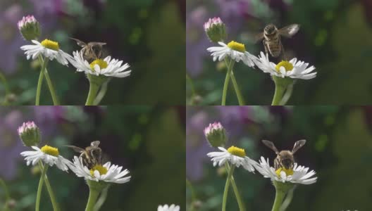
M 204 23 L 204 31 L 213 42 L 223 41 L 227 37 L 226 27 L 221 18 L 209 18 L 208 22 Z

